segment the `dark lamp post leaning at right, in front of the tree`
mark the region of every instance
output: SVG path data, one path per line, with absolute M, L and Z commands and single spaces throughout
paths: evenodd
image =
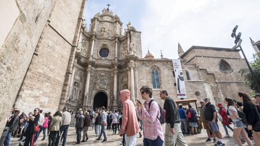
M 251 73 L 251 75 L 253 77 L 254 83 L 256 84 L 257 92 L 260 93 L 259 84 L 256 81 L 254 72 L 253 72 L 251 66 L 249 65 L 249 63 L 247 61 L 247 58 L 246 58 L 246 55 L 245 55 L 245 53 L 244 53 L 244 51 L 243 51 L 243 49 L 241 47 L 241 43 L 242 43 L 242 39 L 240 38 L 241 37 L 241 33 L 238 33 L 238 35 L 235 34 L 235 32 L 237 32 L 238 27 L 239 27 L 238 25 L 235 25 L 235 27 L 233 28 L 232 34 L 231 34 L 231 37 L 235 38 L 235 41 L 234 41 L 235 45 L 232 47 L 232 50 L 234 50 L 234 49 L 236 49 L 238 47 L 240 48 L 240 50 L 241 50 L 241 52 L 242 52 L 242 54 L 243 54 L 243 56 L 245 58 L 246 64 L 248 66 L 248 69 L 249 69 L 249 71 L 250 71 L 250 73 Z

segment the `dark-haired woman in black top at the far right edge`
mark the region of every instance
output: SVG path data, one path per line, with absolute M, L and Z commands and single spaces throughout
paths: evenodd
M 260 119 L 259 113 L 249 95 L 239 92 L 238 100 L 243 103 L 243 112 L 246 114 L 248 130 L 253 130 L 253 138 L 256 146 L 260 146 Z

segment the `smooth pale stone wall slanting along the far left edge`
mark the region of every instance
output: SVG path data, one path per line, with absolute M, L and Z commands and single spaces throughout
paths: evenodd
M 1 33 L 0 44 L 0 134 L 54 4 L 44 0 L 0 2 L 1 30 L 6 31 Z M 7 21 L 2 18 L 5 14 Z

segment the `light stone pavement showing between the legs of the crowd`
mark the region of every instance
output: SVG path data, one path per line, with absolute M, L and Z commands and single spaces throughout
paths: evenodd
M 163 124 L 163 131 L 164 131 L 164 126 L 165 124 Z M 219 126 L 221 127 L 221 133 L 224 137 L 225 135 L 225 131 L 224 128 L 222 126 L 221 123 L 219 123 Z M 231 126 L 232 127 L 232 126 Z M 68 135 L 67 135 L 67 141 L 66 145 L 95 145 L 95 146 L 99 146 L 99 145 L 113 145 L 113 146 L 117 146 L 117 145 L 122 145 L 122 137 L 120 137 L 119 135 L 112 135 L 112 130 L 107 130 L 107 135 L 108 135 L 108 141 L 107 142 L 101 142 L 95 140 L 97 137 L 94 137 L 94 130 L 92 130 L 92 128 L 89 128 L 90 130 L 88 130 L 88 141 L 87 142 L 81 142 L 80 144 L 75 144 L 76 143 L 76 130 L 74 127 L 69 127 L 69 131 L 68 131 Z M 228 130 L 229 135 L 231 136 L 233 133 L 232 131 Z M 206 140 L 206 131 L 202 130 L 201 134 L 197 134 L 197 135 L 184 135 L 185 141 L 187 142 L 188 145 L 201 145 L 201 146 L 209 146 L 209 145 L 214 145 L 213 142 L 205 142 Z M 38 141 L 37 141 L 37 145 L 48 145 L 48 137 L 46 137 L 46 139 L 44 141 L 41 141 L 43 134 L 41 133 Z M 83 133 L 82 133 L 83 136 Z M 138 135 L 139 136 L 139 135 Z M 104 137 L 102 137 L 104 138 Z M 18 138 L 11 138 L 11 144 L 10 145 L 19 145 Z M 143 145 L 143 137 L 142 138 L 136 138 L 136 145 Z M 230 138 L 224 138 L 225 141 L 225 145 L 226 146 L 230 146 L 230 145 L 237 145 L 235 143 L 235 141 L 233 140 L 232 136 Z M 59 145 L 61 145 L 61 143 L 59 143 Z M 243 145 L 247 145 L 247 144 L 243 144 Z M 254 144 L 255 145 L 255 144 Z

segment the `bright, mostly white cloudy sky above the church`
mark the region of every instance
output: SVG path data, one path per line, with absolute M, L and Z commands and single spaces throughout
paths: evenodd
M 235 44 L 230 35 L 239 25 L 241 46 L 253 61 L 249 37 L 260 40 L 259 0 L 88 0 L 84 10 L 87 26 L 107 4 L 120 17 L 123 30 L 130 21 L 141 32 L 143 57 L 149 48 L 155 58 L 160 58 L 162 50 L 163 57 L 178 59 L 178 43 L 184 51 L 192 46 L 232 48 Z

